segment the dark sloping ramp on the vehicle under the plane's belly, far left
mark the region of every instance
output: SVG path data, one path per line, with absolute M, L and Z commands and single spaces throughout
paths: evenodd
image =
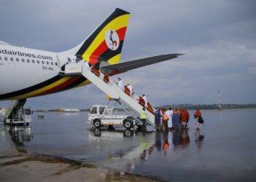
M 16 119 L 18 118 L 18 111 L 20 108 L 23 108 L 23 106 L 26 103 L 26 98 L 19 99 L 19 100 L 13 100 L 10 105 L 7 107 L 7 111 L 5 114 L 6 119 Z

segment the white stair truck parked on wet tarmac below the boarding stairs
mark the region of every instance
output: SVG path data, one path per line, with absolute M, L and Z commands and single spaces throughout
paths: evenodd
M 118 125 L 130 129 L 135 124 L 133 116 L 113 115 L 113 107 L 107 105 L 91 106 L 88 119 L 87 123 L 97 128 Z

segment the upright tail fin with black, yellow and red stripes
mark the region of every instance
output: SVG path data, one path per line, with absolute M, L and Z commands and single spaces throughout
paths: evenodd
M 116 9 L 88 39 L 86 39 L 78 52 L 77 58 L 83 58 L 92 65 L 100 61 L 110 64 L 118 63 L 124 36 L 127 31 L 129 12 Z

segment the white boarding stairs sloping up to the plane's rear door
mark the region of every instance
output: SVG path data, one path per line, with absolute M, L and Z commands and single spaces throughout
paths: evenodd
M 132 116 L 134 116 L 135 119 L 141 124 L 141 121 L 138 118 L 140 118 L 140 112 L 145 106 L 143 98 L 135 95 L 135 93 L 133 93 L 131 96 L 129 89 L 126 86 L 124 87 L 124 91 L 122 91 L 118 88 L 118 85 L 109 78 L 107 74 L 103 74 L 97 69 L 90 70 L 84 66 L 83 63 L 76 64 L 78 66 L 77 69 L 75 69 L 75 63 L 73 63 L 73 65 L 69 64 L 66 66 L 63 74 L 67 76 L 74 76 L 80 73 L 86 77 L 86 79 L 89 79 L 91 83 L 95 84 L 100 90 L 102 90 L 102 92 L 105 92 L 105 94 L 108 95 L 112 100 L 116 100 L 116 102 L 120 103 L 122 108 L 124 108 L 124 110 L 129 114 L 133 114 Z M 73 66 L 74 68 L 72 68 Z M 149 102 L 146 107 L 146 115 L 147 124 L 150 124 L 154 127 L 154 108 Z

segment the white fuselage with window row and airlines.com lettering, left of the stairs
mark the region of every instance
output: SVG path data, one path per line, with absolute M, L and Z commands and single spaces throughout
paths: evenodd
M 54 87 L 64 89 L 63 84 L 71 81 L 56 76 L 68 58 L 63 53 L 0 44 L 0 100 L 58 92 Z

